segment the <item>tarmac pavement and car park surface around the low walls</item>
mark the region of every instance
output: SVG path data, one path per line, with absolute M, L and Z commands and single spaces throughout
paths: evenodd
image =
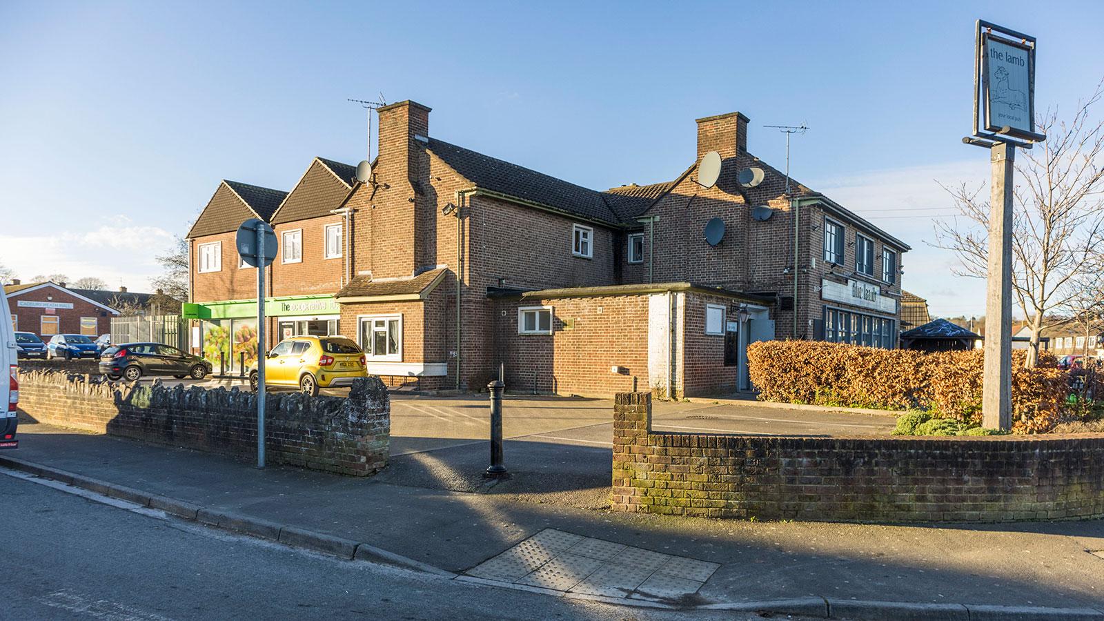
M 62 481 L 70 476 L 76 485 L 118 487 L 117 495 L 129 494 L 148 506 L 171 499 L 191 507 L 193 518 L 205 511 L 223 527 L 261 525 L 255 533 L 275 534 L 269 538 L 276 540 L 287 533 L 298 537 L 294 543 L 347 541 L 351 547 L 335 549 L 351 555 L 363 549 L 370 560 L 457 579 L 481 579 L 477 568 L 554 530 L 606 547 L 715 565 L 692 597 L 652 598 L 651 603 L 676 608 L 745 606 L 848 619 L 1101 618 L 1104 558 L 1090 552 L 1104 549 L 1102 520 L 900 526 L 612 513 L 604 508 L 608 401 L 508 400 L 505 453 L 513 477 L 490 483 L 480 476 L 488 454 L 479 440 L 487 430 L 485 399 L 394 398 L 392 464 L 368 480 L 291 467 L 256 470 L 221 456 L 41 424 L 22 424 L 20 449 L 0 454 L 0 462 Z M 892 421 L 735 402 L 657 403 L 654 409 L 657 428 L 744 433 L 875 434 L 885 433 Z M 566 597 L 567 591 L 548 592 Z M 628 590 L 623 599 L 634 593 L 649 594 L 646 588 Z

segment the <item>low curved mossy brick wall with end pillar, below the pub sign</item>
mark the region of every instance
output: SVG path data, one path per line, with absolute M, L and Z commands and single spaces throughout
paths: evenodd
M 701 517 L 1008 522 L 1104 516 L 1104 434 L 763 438 L 651 431 L 614 406 L 613 508 Z

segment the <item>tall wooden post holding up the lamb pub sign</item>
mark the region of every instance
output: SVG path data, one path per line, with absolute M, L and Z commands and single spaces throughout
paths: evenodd
M 989 199 L 989 277 L 985 305 L 985 379 L 981 419 L 988 429 L 1012 428 L 1012 170 L 1016 146 L 996 143 Z

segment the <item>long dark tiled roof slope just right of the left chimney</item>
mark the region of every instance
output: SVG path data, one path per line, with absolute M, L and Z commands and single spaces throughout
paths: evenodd
M 618 224 L 602 192 L 556 179 L 501 159 L 429 138 L 429 150 L 480 189 L 507 194 L 576 215 Z

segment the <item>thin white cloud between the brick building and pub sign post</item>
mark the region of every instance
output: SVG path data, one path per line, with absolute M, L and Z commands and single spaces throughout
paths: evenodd
M 902 284 L 927 298 L 933 316 L 970 316 L 985 313 L 985 281 L 955 276 L 958 260 L 954 253 L 933 248 L 930 242 L 935 241 L 935 221 L 951 219 L 955 213 L 951 196 L 940 183 L 976 185 L 988 178 L 989 160 L 983 156 L 813 180 L 810 187 L 912 246 L 902 257 Z

